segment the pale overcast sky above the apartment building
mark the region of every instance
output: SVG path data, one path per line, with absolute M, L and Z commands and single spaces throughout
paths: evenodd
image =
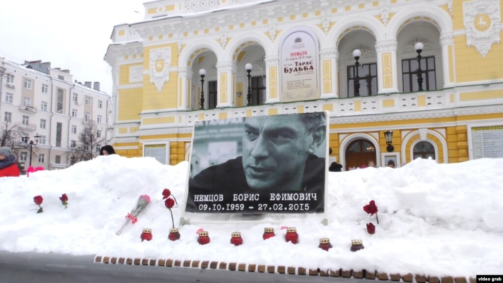
M 143 20 L 149 0 L 0 0 L 0 56 L 15 63 L 51 62 L 73 80 L 100 82 L 112 94 L 103 60 L 114 26 Z

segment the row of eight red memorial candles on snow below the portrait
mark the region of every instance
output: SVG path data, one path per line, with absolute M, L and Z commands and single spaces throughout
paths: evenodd
M 208 231 L 199 231 L 199 237 L 197 239 L 197 242 L 201 245 L 206 245 L 210 242 L 210 237 Z M 268 227 L 264 228 L 264 234 L 262 235 L 262 238 L 264 240 L 267 240 L 271 237 L 276 236 L 274 233 L 274 228 Z M 180 239 L 180 231 L 178 228 L 172 228 L 170 229 L 170 234 L 167 236 L 170 240 L 176 241 Z M 141 233 L 141 241 L 143 242 L 144 240 L 150 241 L 152 239 L 152 229 L 146 228 L 143 229 L 143 232 Z M 299 234 L 297 234 L 297 228 L 295 227 L 288 227 L 286 229 L 286 234 L 285 234 L 285 241 L 286 242 L 291 242 L 292 244 L 297 244 L 299 241 Z M 230 238 L 230 243 L 239 246 L 243 244 L 243 238 L 241 237 L 241 232 L 232 232 L 231 233 L 231 238 Z M 332 245 L 330 244 L 330 239 L 329 238 L 321 238 L 319 239 L 319 245 L 318 248 L 323 249 L 325 251 L 328 251 Z M 362 240 L 352 240 L 351 241 L 351 251 L 358 251 L 363 249 L 363 243 Z

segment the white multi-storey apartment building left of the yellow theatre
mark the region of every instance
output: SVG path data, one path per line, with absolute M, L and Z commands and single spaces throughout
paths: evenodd
M 78 144 L 78 135 L 90 123 L 96 126 L 97 135 L 110 140 L 111 98 L 100 91 L 99 82 L 79 83 L 69 70 L 42 61 L 18 64 L 0 57 L 0 71 L 1 129 L 13 128 L 20 145 L 16 154 L 25 169 L 30 154 L 33 167 L 68 167 L 72 164 L 69 150 Z M 36 142 L 37 136 L 38 143 L 30 152 L 22 139 Z M 98 155 L 98 145 L 94 152 Z

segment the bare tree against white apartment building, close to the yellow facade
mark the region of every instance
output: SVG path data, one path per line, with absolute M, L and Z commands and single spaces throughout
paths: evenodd
M 70 145 L 66 152 L 70 164 L 73 165 L 80 161 L 91 160 L 100 155 L 99 148 L 106 142 L 98 126 L 90 121 L 86 127 L 78 134 L 78 140 L 75 145 Z

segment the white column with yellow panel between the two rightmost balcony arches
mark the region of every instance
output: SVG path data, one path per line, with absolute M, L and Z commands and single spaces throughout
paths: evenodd
M 378 93 L 398 92 L 396 40 L 376 42 Z

